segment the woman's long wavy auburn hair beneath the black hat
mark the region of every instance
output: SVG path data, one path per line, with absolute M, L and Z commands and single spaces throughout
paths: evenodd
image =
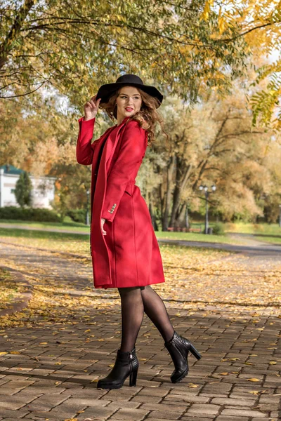
M 124 86 L 131 86 L 131 85 L 124 85 Z M 131 120 L 138 121 L 139 125 L 144 128 L 146 131 L 148 131 L 148 145 L 151 146 L 152 143 L 155 141 L 155 126 L 156 123 L 159 123 L 159 126 L 161 127 L 162 132 L 166 135 L 166 138 L 168 138 L 168 135 L 164 131 L 164 122 L 162 119 L 162 116 L 156 111 L 157 107 L 159 107 L 159 101 L 157 98 L 152 97 L 148 93 L 142 91 L 141 89 L 138 89 L 138 92 L 141 95 L 141 109 L 140 111 L 136 112 L 136 114 L 133 114 L 131 116 L 127 123 Z M 100 102 L 100 109 L 103 109 L 107 113 L 107 115 L 110 117 L 112 121 L 117 120 L 117 104 L 116 100 L 120 93 L 120 89 L 113 93 L 109 100 L 107 102 Z

